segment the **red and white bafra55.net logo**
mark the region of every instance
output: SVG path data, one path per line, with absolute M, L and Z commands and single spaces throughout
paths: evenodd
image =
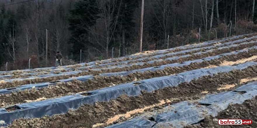
M 251 125 L 252 120 L 242 120 L 242 119 L 219 119 L 219 125 Z

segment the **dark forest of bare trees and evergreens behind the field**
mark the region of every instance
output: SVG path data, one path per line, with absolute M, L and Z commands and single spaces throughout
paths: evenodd
M 141 0 L 1 0 L 0 65 L 8 70 L 139 51 Z M 143 51 L 256 32 L 255 0 L 146 0 Z M 209 39 L 210 32 L 210 39 Z M 216 34 L 217 33 L 217 34 Z

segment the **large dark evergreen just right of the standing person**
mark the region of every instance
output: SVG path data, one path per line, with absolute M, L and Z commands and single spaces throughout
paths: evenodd
M 72 53 L 74 59 L 79 60 L 80 49 L 88 51 L 88 29 L 96 22 L 98 14 L 97 3 L 95 0 L 82 0 L 74 3 L 74 9 L 70 10 L 70 31 L 72 32 Z

